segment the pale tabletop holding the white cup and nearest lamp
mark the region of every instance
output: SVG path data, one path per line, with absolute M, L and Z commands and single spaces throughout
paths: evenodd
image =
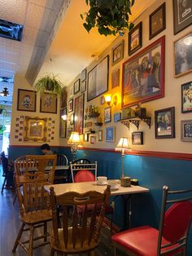
M 103 193 L 104 190 L 107 188 L 107 184 L 105 185 L 98 185 L 95 181 L 91 182 L 82 182 L 82 183 L 61 183 L 61 184 L 54 184 L 54 185 L 46 185 L 46 191 L 50 190 L 50 187 L 53 187 L 55 190 L 56 196 L 61 195 L 65 192 L 79 192 L 85 193 L 91 190 Z M 121 187 L 111 189 L 111 196 L 117 195 L 126 195 L 126 194 L 133 194 L 133 193 L 144 193 L 149 192 L 148 188 L 140 187 L 140 186 L 131 186 L 131 187 Z

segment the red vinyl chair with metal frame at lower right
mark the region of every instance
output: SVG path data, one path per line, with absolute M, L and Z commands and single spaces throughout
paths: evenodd
M 115 245 L 115 255 L 116 248 L 137 256 L 186 255 L 192 217 L 192 204 L 189 201 L 192 198 L 192 190 L 170 191 L 164 186 L 163 191 L 159 230 L 142 226 L 117 233 L 111 237 Z M 184 193 L 185 196 L 186 193 L 190 196 L 181 198 Z M 176 199 L 177 194 L 180 196 Z M 170 195 L 175 195 L 174 199 L 168 200 Z M 172 205 L 166 211 L 170 204 Z

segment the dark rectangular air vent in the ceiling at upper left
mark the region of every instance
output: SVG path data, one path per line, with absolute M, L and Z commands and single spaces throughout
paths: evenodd
M 24 26 L 6 20 L 0 20 L 0 37 L 21 41 Z

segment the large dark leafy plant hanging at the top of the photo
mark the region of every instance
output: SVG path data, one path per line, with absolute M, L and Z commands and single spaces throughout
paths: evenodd
M 129 22 L 131 7 L 134 0 L 85 0 L 89 4 L 89 11 L 81 14 L 85 29 L 89 32 L 98 27 L 98 33 L 107 35 L 124 35 L 125 29 L 133 29 L 134 24 Z

